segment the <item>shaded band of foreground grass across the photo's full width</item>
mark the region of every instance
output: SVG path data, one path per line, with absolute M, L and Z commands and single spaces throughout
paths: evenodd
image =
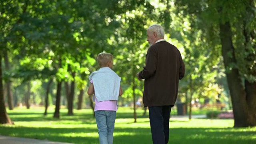
M 172 144 L 255 144 L 254 131 L 235 132 L 234 128 L 171 128 Z M 92 136 L 92 133 L 94 135 Z M 40 140 L 97 144 L 97 128 L 1 127 L 1 135 Z M 152 144 L 150 128 L 115 128 L 114 144 Z

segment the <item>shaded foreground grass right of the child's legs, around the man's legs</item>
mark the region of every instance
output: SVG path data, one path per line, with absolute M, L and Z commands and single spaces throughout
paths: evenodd
M 225 131 L 226 130 L 226 131 Z M 171 128 L 171 144 L 255 144 L 254 131 L 232 132 L 233 128 Z M 116 144 L 152 144 L 150 128 L 116 128 Z M 123 134 L 127 132 L 127 134 Z M 118 134 L 121 133 L 121 134 Z

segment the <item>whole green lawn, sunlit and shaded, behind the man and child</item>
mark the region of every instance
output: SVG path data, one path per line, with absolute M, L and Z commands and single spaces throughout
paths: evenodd
M 99 144 L 98 130 L 95 118 L 91 113 L 75 113 L 68 116 L 60 113 L 60 119 L 53 118 L 53 112 L 43 116 L 40 112 L 10 112 L 9 116 L 15 122 L 45 122 L 56 121 L 55 128 L 30 126 L 8 126 L 0 125 L 0 135 L 34 138 L 40 140 L 51 140 L 59 142 L 70 142 L 75 144 Z M 137 118 L 142 118 L 138 124 L 132 122 L 132 112 L 117 113 L 116 128 L 114 131 L 114 144 L 152 144 L 151 131 L 149 127 L 139 127 L 141 123 L 149 123 L 148 115 L 137 113 Z M 144 118 L 144 119 L 143 119 Z M 126 120 L 129 119 L 129 120 Z M 171 122 L 176 120 L 170 119 Z M 141 122 L 142 121 L 142 122 Z M 186 120 L 177 120 L 184 126 Z M 58 127 L 58 123 L 67 128 Z M 68 128 L 69 124 L 74 128 Z M 43 123 L 41 123 L 43 124 Z M 81 125 L 81 126 L 80 126 Z M 133 126 L 134 127 L 131 127 Z M 221 125 L 221 124 L 220 124 Z M 35 126 L 36 127 L 36 126 Z M 56 128 L 57 127 L 57 128 Z M 63 126 L 62 126 L 63 127 Z M 70 127 L 70 126 L 69 126 Z M 172 128 L 170 124 L 171 144 L 256 144 L 255 130 L 236 130 L 235 128 Z

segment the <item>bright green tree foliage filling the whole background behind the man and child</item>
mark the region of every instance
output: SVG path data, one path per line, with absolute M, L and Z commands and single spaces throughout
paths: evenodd
M 122 78 L 120 99 L 130 103 L 133 90 L 136 99 L 143 92 L 143 81 L 135 75 L 149 47 L 146 28 L 159 23 L 186 64 L 181 99 L 228 98 L 225 69 L 239 68 L 242 77 L 255 80 L 254 9 L 255 2 L 246 0 L 1 1 L 0 48 L 8 50 L 12 65 L 4 79 L 12 78 L 14 88 L 29 80 L 75 80 L 77 90 L 86 90 L 88 75 L 99 68 L 97 54 L 110 52 Z M 228 68 L 219 37 L 219 24 L 226 21 L 232 25 L 237 58 Z

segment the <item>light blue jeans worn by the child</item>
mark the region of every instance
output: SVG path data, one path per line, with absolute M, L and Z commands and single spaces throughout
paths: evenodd
M 116 121 L 116 111 L 95 111 L 100 144 L 113 144 L 113 133 Z

